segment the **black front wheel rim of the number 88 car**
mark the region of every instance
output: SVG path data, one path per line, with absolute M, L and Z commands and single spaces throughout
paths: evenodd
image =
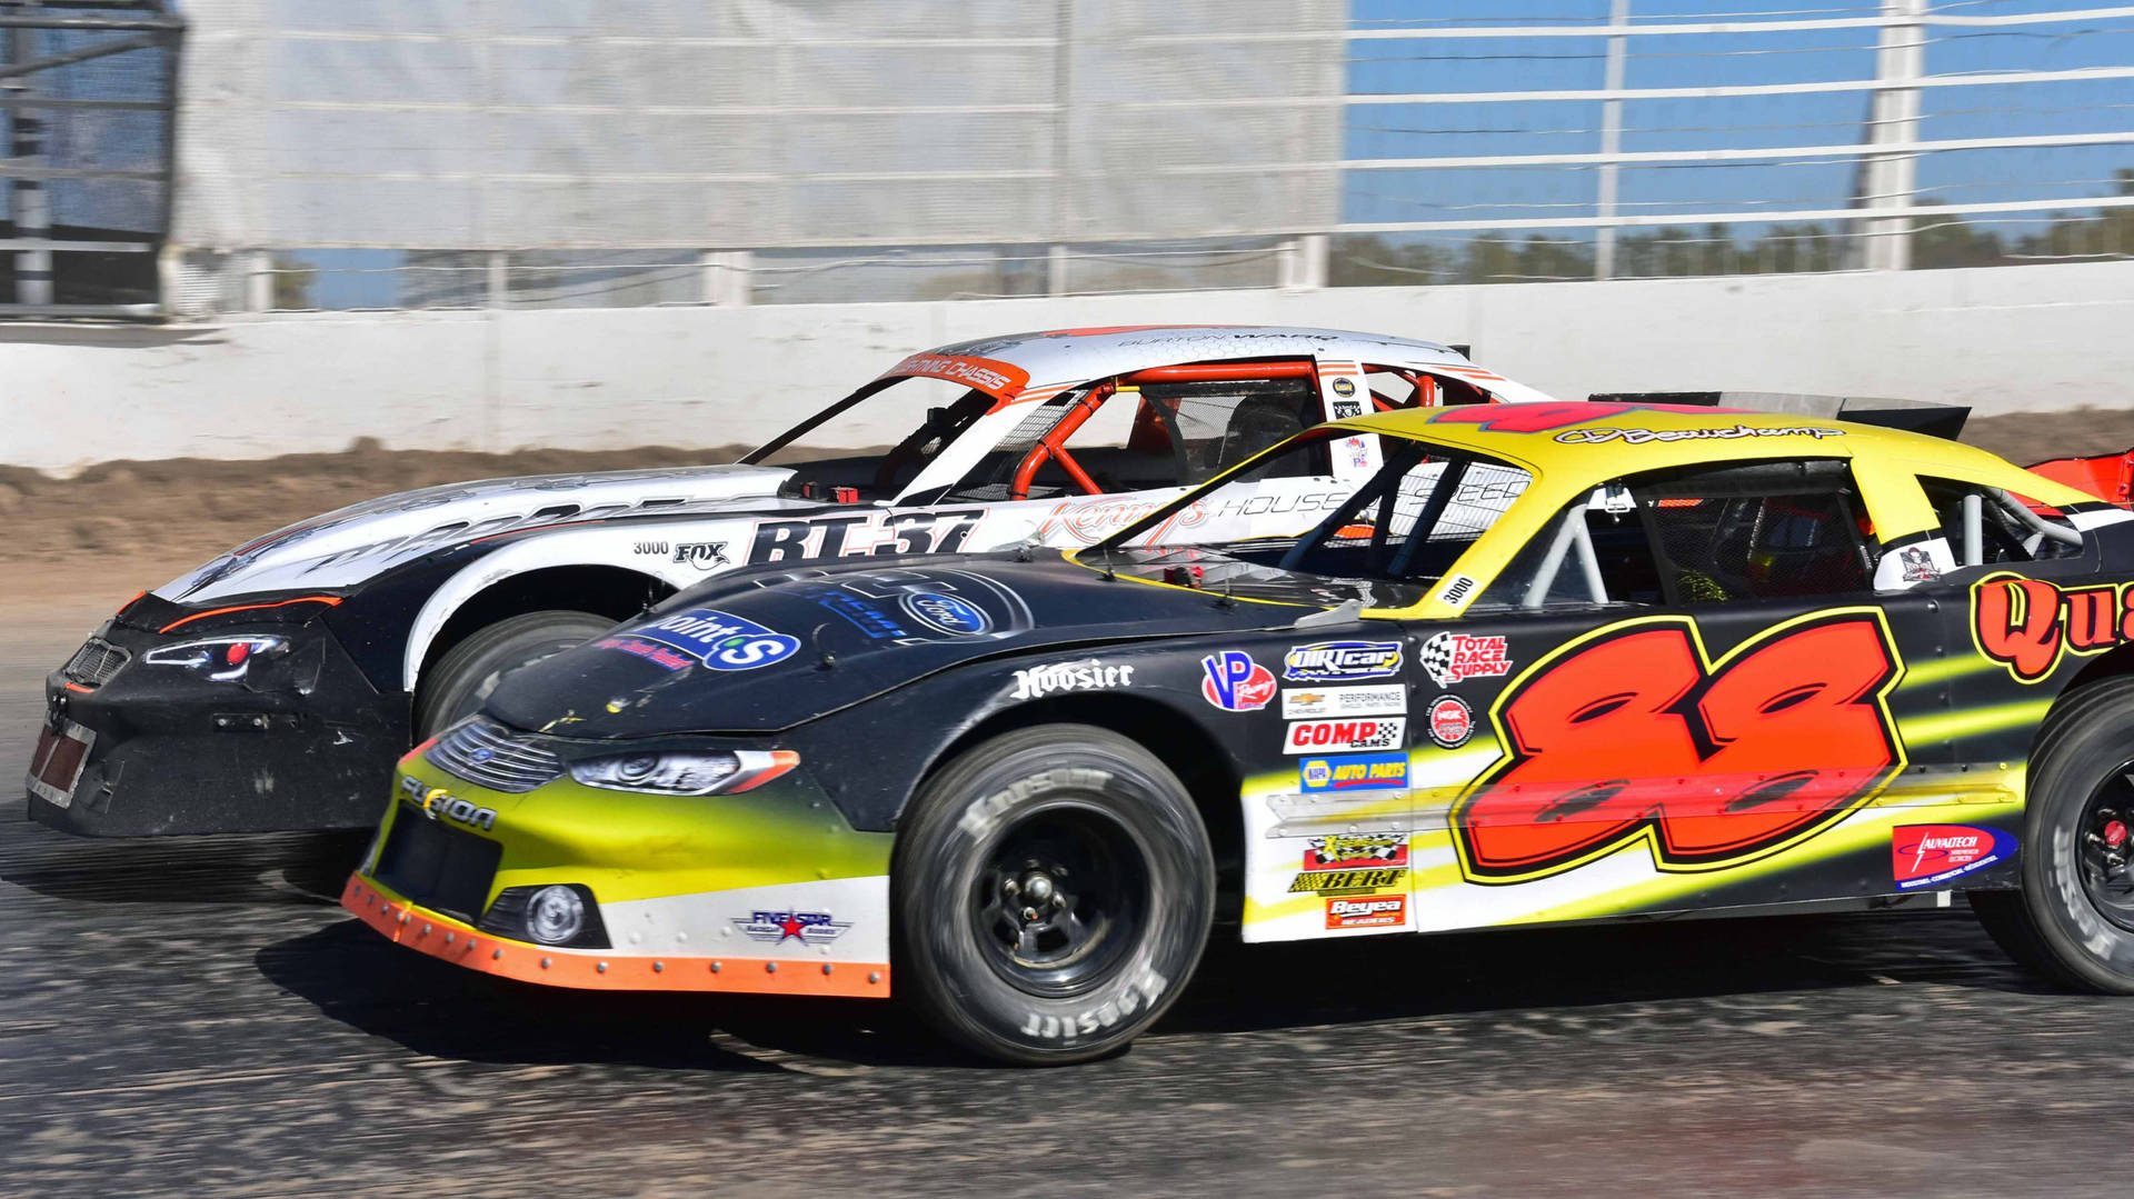
M 1112 977 L 1148 926 L 1148 856 L 1101 809 L 1044 806 L 992 841 L 969 905 L 997 975 L 1026 994 L 1076 996 Z

